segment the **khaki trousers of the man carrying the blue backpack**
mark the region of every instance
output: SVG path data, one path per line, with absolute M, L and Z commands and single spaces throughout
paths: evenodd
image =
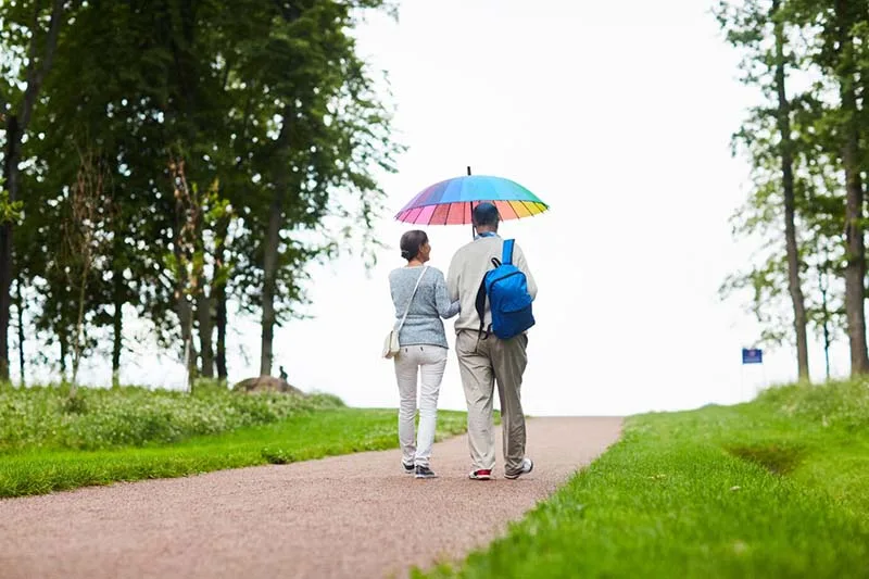
M 474 330 L 461 330 L 455 351 L 468 405 L 468 446 L 474 469 L 491 470 L 495 466 L 492 394 L 498 383 L 501 400 L 501 428 L 504 444 L 504 470 L 521 469 L 525 458 L 525 414 L 520 399 L 522 374 L 528 365 L 528 336 L 509 340 L 493 335 L 482 339 Z

